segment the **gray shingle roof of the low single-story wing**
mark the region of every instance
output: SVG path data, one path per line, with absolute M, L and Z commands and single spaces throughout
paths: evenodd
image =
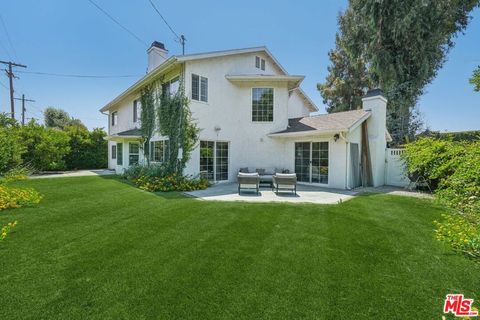
M 370 112 L 360 109 L 288 119 L 287 129 L 274 132 L 272 135 L 308 131 L 347 131 L 358 121 L 367 119 L 369 115 Z

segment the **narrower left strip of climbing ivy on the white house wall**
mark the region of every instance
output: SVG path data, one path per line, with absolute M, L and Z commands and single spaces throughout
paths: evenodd
M 154 84 L 145 86 L 142 89 L 140 97 L 140 103 L 142 105 L 142 112 L 140 113 L 140 132 L 144 140 L 143 153 L 147 164 L 150 163 L 149 148 L 150 140 L 155 131 L 155 92 L 156 87 Z

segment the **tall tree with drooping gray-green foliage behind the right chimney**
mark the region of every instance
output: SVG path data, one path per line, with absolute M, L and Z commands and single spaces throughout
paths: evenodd
M 454 37 L 466 28 L 469 13 L 478 4 L 479 0 L 350 0 L 339 19 L 337 41 L 348 64 L 332 60 L 330 69 L 357 80 L 349 80 L 355 86 L 344 93 L 327 77 L 319 88 L 326 87 L 321 93 L 331 102 L 328 109 L 341 110 L 343 106 L 336 101 L 351 99 L 365 86 L 380 87 L 389 99 L 388 128 L 394 142 L 402 143 L 418 128 L 418 98 L 442 67 Z M 344 67 L 362 60 L 368 82 Z M 325 92 L 341 98 L 332 99 Z

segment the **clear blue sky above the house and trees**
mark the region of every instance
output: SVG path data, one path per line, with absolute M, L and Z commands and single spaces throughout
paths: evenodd
M 146 43 L 164 42 L 171 54 L 181 53 L 174 36 L 148 0 L 94 0 Z M 329 64 L 338 13 L 346 1 L 161 1 L 154 0 L 168 22 L 187 38 L 186 53 L 266 45 L 291 74 L 306 76 L 303 88 L 325 108 L 316 90 Z M 17 73 L 16 94 L 36 100 L 27 104 L 28 118 L 41 118 L 56 106 L 88 127 L 106 127 L 98 112 L 145 73 L 146 49 L 109 20 L 88 0 L 8 1 L 0 11 L 10 40 L 0 24 L 0 60 L 26 64 L 29 72 L 90 75 L 134 75 L 132 78 L 61 78 Z M 434 130 L 480 129 L 480 93 L 468 78 L 480 65 L 480 10 L 419 107 Z M 13 45 L 13 48 L 12 48 Z M 22 71 L 19 69 L 19 71 Z M 7 77 L 0 77 L 0 111 L 9 111 Z M 17 114 L 20 104 L 16 104 Z

